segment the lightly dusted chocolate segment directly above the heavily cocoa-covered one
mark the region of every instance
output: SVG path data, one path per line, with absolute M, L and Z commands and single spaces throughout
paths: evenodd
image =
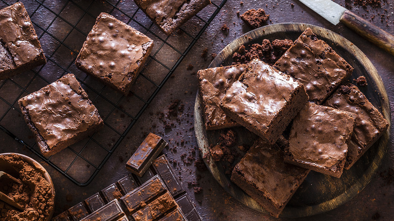
M 132 192 L 120 198 L 126 205 L 127 210 L 133 213 L 142 203 L 149 203 L 156 196 L 166 192 L 167 189 L 159 176 L 153 177 L 151 180 L 142 184 Z

